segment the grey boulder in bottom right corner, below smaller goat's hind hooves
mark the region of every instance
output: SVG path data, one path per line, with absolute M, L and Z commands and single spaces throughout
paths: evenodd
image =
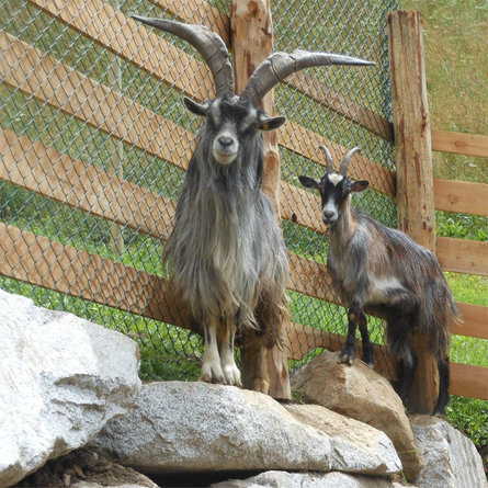
M 483 461 L 473 442 L 445 420 L 410 418 L 423 461 L 415 480 L 419 488 L 487 488 Z

